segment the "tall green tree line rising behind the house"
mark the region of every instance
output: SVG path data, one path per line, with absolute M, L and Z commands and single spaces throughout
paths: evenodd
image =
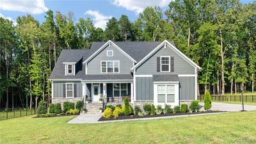
M 31 15 L 17 25 L 0 18 L 0 107 L 51 102 L 49 76 L 62 49 L 88 49 L 95 41 L 172 40 L 202 69 L 198 95 L 254 91 L 256 74 L 256 1 L 176 0 L 163 12 L 147 7 L 134 22 L 112 17 L 106 29 L 90 18 L 49 10 L 40 24 Z

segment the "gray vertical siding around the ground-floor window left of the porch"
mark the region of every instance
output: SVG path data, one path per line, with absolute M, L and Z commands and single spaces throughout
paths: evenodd
M 74 97 L 83 97 L 82 83 L 81 82 L 53 82 L 53 96 L 52 97 L 66 97 L 63 94 L 63 84 L 74 83 L 76 85 L 76 94 Z

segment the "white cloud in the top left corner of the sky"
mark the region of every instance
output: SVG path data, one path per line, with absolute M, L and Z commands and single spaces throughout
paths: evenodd
M 40 14 L 48 10 L 44 0 L 0 0 L 1 10 Z

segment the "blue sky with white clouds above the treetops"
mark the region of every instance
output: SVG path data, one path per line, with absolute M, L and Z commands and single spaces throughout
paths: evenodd
M 74 20 L 90 17 L 96 27 L 105 28 L 111 17 L 124 14 L 131 21 L 138 18 L 146 6 L 160 6 L 163 10 L 168 8 L 171 0 L 0 0 L 0 17 L 12 19 L 14 22 L 20 15 L 30 13 L 35 19 L 44 22 L 45 12 L 60 11 L 67 15 L 68 11 L 74 13 Z M 241 0 L 241 3 L 251 3 L 252 0 Z

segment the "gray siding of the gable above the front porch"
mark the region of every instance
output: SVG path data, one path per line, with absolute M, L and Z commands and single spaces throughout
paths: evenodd
M 107 56 L 107 51 L 113 51 L 113 56 Z M 101 74 L 100 61 L 119 61 L 119 72 L 120 73 L 104 73 L 105 74 L 131 74 L 130 68 L 133 67 L 133 61 L 131 61 L 127 56 L 122 54 L 115 46 L 107 46 L 103 49 L 97 56 L 88 62 L 87 74 Z

